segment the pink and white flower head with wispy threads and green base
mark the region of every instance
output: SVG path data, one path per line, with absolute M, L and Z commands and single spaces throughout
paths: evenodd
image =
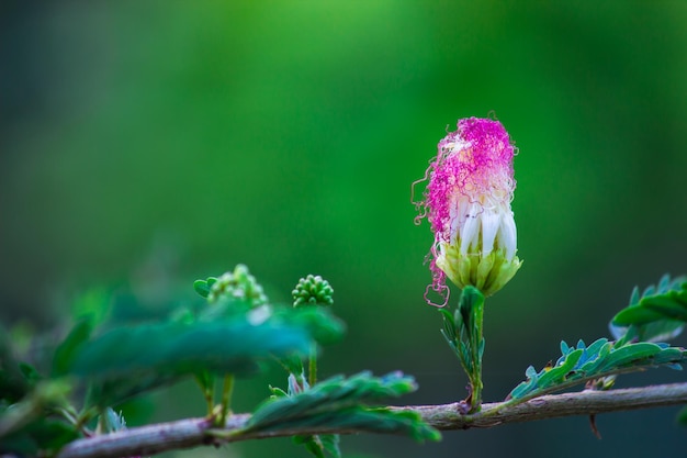
M 448 302 L 446 277 L 461 289 L 473 286 L 491 295 L 520 268 L 510 210 L 514 155 L 508 133 L 494 120 L 460 120 L 458 131 L 439 142 L 425 177 L 429 182 L 424 200 L 416 203 L 416 223 L 427 216 L 435 234 L 429 254 L 432 282 L 425 294 L 431 305 Z M 430 289 L 443 304 L 428 299 Z

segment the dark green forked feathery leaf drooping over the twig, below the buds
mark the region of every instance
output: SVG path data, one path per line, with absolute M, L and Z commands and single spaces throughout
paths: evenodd
M 246 432 L 278 432 L 317 427 L 404 434 L 416 440 L 438 440 L 439 433 L 407 411 L 363 405 L 415 391 L 413 378 L 390 373 L 382 378 L 361 372 L 348 379 L 334 377 L 293 396 L 272 398 L 258 406 Z

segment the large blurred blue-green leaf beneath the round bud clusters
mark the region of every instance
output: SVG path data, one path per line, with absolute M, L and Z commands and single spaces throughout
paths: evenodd
M 68 369 L 97 382 L 92 403 L 109 405 L 192 373 L 251 373 L 267 357 L 306 355 L 314 337 L 327 340 L 342 332 L 325 311 L 256 311 L 230 320 L 115 328 L 77 347 Z

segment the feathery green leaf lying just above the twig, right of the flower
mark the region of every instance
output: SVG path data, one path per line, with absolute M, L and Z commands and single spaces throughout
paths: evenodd
M 563 390 L 594 379 L 616 373 L 643 370 L 649 367 L 666 366 L 682 369 L 687 359 L 684 348 L 667 344 L 639 342 L 623 344 L 599 338 L 588 347 L 579 340 L 576 347 L 561 342 L 563 354 L 552 367 L 539 372 L 530 366 L 527 380 L 518 384 L 508 395 L 513 400 L 531 399 L 541 394 Z

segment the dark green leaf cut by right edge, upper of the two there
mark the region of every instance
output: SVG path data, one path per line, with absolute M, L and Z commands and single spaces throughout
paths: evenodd
M 682 333 L 687 322 L 687 278 L 661 278 L 642 294 L 634 288 L 629 305 L 610 322 L 616 338 L 667 340 Z

